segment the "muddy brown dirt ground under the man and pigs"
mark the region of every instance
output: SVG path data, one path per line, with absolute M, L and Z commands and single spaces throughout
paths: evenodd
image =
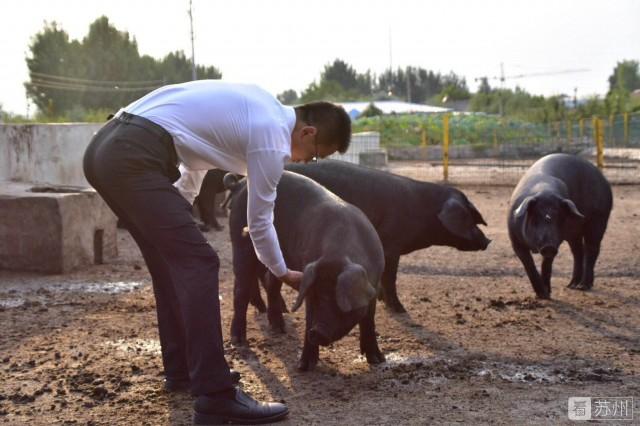
M 244 389 L 288 404 L 281 424 L 568 424 L 570 396 L 636 397 L 637 417 L 640 186 L 614 187 L 594 290 L 565 287 L 564 244 L 550 301 L 534 298 L 510 248 L 512 188 L 461 189 L 493 243 L 485 252 L 432 247 L 401 259 L 408 313 L 378 305 L 387 357 L 378 366 L 359 354 L 356 329 L 321 349 L 315 371 L 298 372 L 304 309 L 286 315 L 286 335 L 250 310 L 249 347 L 233 347 L 226 221 L 224 231 L 206 234 L 222 262 L 227 359 Z M 119 251 L 112 263 L 64 276 L 0 272 L 0 423 L 191 423 L 192 398 L 163 390 L 150 279 L 122 230 Z M 284 296 L 291 305 L 293 292 Z

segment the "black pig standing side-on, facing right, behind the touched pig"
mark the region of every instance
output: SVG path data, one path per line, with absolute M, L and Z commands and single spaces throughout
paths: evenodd
M 395 312 L 405 312 L 396 292 L 401 255 L 433 245 L 464 251 L 489 245 L 477 226 L 486 225 L 482 215 L 455 188 L 335 160 L 290 164 L 287 170 L 310 177 L 369 218 L 384 248 L 380 297 Z

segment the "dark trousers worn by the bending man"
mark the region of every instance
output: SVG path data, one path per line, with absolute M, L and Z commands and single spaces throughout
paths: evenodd
M 224 359 L 220 260 L 198 230 L 171 136 L 140 117 L 112 119 L 84 156 L 87 180 L 125 223 L 149 268 L 162 361 L 169 379 L 190 379 L 201 395 L 232 387 Z

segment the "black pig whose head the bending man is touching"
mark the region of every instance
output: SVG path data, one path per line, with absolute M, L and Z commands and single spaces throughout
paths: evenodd
M 227 175 L 229 176 L 229 175 Z M 246 340 L 246 314 L 252 291 L 265 268 L 246 233 L 247 189 L 233 183 L 229 232 L 233 248 L 234 313 L 231 339 Z M 305 302 L 306 327 L 299 368 L 318 362 L 319 345 L 328 345 L 360 326 L 360 350 L 369 363 L 384 356 L 375 335 L 376 294 L 384 268 L 382 244 L 366 216 L 356 207 L 304 176 L 284 172 L 278 184 L 274 226 L 287 266 L 303 271 L 295 311 Z M 273 281 L 274 277 L 271 276 Z M 270 320 L 283 328 L 277 301 L 281 283 L 267 286 Z M 273 303 L 273 301 L 276 303 Z M 278 321 L 278 317 L 280 318 Z

